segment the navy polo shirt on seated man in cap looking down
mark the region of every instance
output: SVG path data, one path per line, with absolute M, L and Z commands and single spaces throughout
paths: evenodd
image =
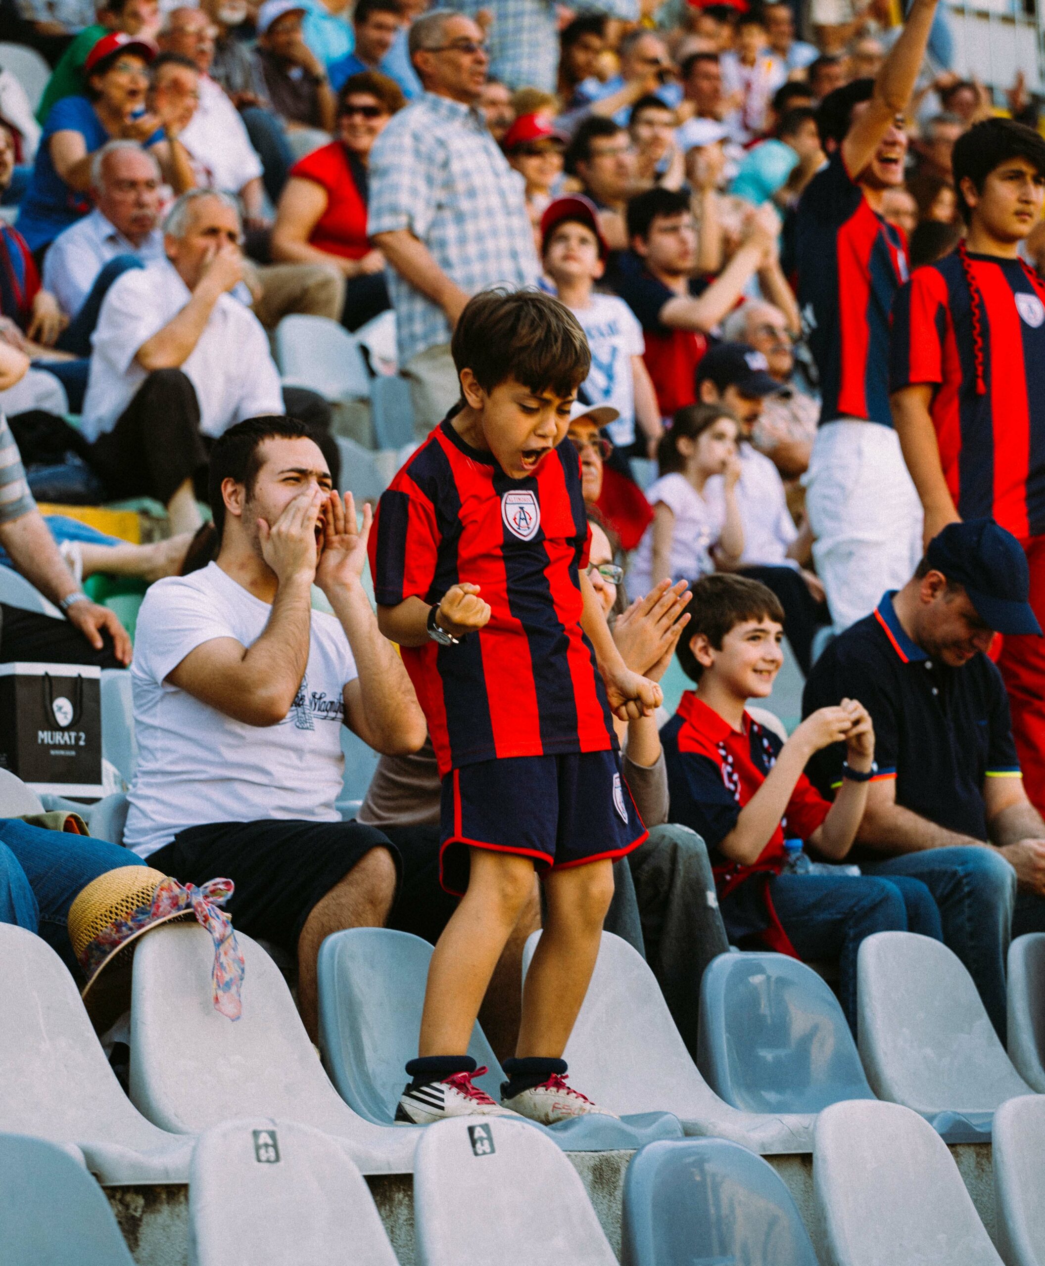
M 802 714 L 859 699 L 874 722 L 878 777 L 897 804 L 949 830 L 987 839 L 984 779 L 1020 777 L 1002 675 L 985 655 L 960 668 L 930 660 L 903 632 L 893 592 L 836 637 L 806 681 Z M 808 774 L 822 794 L 841 781 L 845 744 L 817 752 Z

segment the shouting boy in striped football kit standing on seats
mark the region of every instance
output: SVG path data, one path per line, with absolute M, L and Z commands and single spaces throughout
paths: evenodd
M 419 1056 L 399 1100 L 417 1123 L 599 1112 L 564 1080 L 613 894 L 646 838 L 611 709 L 651 715 L 586 573 L 576 449 L 560 444 L 590 357 L 557 300 L 476 295 L 453 332 L 462 399 L 381 496 L 377 619 L 403 648 L 442 777 L 441 881 L 462 893 L 428 972 Z M 500 1106 L 467 1048 L 490 975 L 541 872 L 547 915 Z

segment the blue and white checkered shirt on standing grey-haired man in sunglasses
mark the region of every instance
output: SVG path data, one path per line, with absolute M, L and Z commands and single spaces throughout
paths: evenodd
M 479 110 L 426 92 L 370 152 L 367 232 L 408 229 L 455 285 L 521 289 L 540 273 L 523 181 Z M 399 363 L 450 342 L 442 309 L 389 268 Z

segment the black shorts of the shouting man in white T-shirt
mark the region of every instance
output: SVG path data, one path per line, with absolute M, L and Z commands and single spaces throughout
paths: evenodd
M 376 827 L 358 822 L 218 822 L 187 827 L 146 858 L 148 866 L 199 887 L 231 879 L 222 906 L 248 937 L 298 952 L 298 937 L 317 905 L 371 848 L 399 853 Z

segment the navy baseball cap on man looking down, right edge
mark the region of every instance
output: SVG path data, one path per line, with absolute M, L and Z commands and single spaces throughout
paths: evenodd
M 949 523 L 928 542 L 925 560 L 965 589 L 977 615 L 996 633 L 1041 637 L 1041 625 L 1027 601 L 1027 556 L 1016 537 L 993 519 Z

